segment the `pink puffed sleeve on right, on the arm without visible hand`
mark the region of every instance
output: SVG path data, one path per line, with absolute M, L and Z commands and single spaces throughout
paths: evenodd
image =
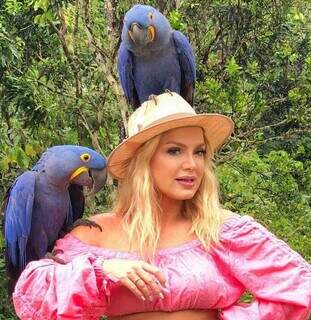
M 220 319 L 307 320 L 311 266 L 251 217 L 234 221 L 222 233 L 218 254 L 254 300 L 224 308 Z

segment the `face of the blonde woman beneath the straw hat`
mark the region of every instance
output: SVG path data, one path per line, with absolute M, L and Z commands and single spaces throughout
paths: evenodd
M 162 196 L 172 200 L 193 198 L 203 177 L 205 153 L 201 128 L 165 132 L 150 164 L 154 184 Z

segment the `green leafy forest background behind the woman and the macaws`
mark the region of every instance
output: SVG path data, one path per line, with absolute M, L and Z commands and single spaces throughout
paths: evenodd
M 107 155 L 119 142 L 126 112 L 116 52 L 123 15 L 134 3 L 0 2 L 1 197 L 52 145 L 81 144 Z M 311 261 L 310 2 L 144 3 L 190 38 L 196 110 L 235 122 L 216 156 L 225 207 L 255 216 Z M 112 190 L 87 199 L 87 214 L 108 210 Z M 0 236 L 1 284 L 3 251 Z M 15 319 L 4 290 L 1 298 L 0 320 Z

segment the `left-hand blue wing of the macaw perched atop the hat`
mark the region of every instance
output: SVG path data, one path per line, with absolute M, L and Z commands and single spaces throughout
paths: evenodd
M 133 56 L 132 53 L 129 50 L 127 50 L 123 42 L 121 42 L 118 51 L 117 66 L 121 86 L 123 88 L 126 100 L 134 109 L 137 109 L 140 106 L 140 103 L 134 84 Z

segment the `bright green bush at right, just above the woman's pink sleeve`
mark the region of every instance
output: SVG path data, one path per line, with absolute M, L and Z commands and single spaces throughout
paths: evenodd
M 308 167 L 283 150 L 262 156 L 252 150 L 220 166 L 218 174 L 227 208 L 257 217 L 311 260 Z

